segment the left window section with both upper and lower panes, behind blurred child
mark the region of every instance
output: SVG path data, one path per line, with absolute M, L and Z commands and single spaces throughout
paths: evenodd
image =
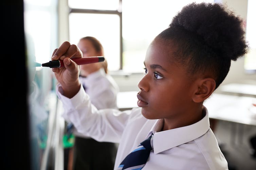
M 122 69 L 121 3 L 119 0 L 69 0 L 69 38 L 77 44 L 80 38 L 95 37 L 102 43 L 108 69 Z M 79 9 L 77 9 L 79 8 Z

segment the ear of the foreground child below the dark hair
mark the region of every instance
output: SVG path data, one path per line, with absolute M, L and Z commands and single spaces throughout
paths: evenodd
M 197 81 L 197 89 L 193 94 L 194 102 L 203 102 L 214 92 L 216 87 L 215 80 L 213 78 L 203 78 Z

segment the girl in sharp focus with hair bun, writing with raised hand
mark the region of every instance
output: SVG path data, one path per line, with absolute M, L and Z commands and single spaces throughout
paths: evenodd
M 64 42 L 52 57 L 65 63 L 65 68 L 52 69 L 63 117 L 95 140 L 120 143 L 115 170 L 228 169 L 203 102 L 224 80 L 231 60 L 246 53 L 241 23 L 221 4 L 185 6 L 149 45 L 145 75 L 138 83 L 139 108 L 124 112 L 91 104 L 78 66 L 69 59 L 81 57 L 81 51 Z M 142 141 L 148 137 L 146 146 Z M 141 156 L 133 165 L 123 162 L 138 146 L 136 150 L 150 148 L 147 162 L 135 165 Z

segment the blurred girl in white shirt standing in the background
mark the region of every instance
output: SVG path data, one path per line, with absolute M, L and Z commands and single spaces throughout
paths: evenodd
M 77 44 L 83 57 L 104 56 L 102 44 L 94 37 L 83 37 Z M 119 88 L 114 79 L 107 74 L 107 60 L 80 66 L 79 80 L 91 103 L 97 109 L 117 109 L 116 95 Z M 111 142 L 97 142 L 87 135 L 79 133 L 75 128 L 75 143 L 70 150 L 69 168 L 83 170 L 113 170 L 117 145 Z M 93 149 L 88 149 L 93 148 Z M 104 150 L 103 150 L 104 149 Z M 99 153 L 101 150 L 101 154 Z M 102 162 L 99 164 L 98 162 Z

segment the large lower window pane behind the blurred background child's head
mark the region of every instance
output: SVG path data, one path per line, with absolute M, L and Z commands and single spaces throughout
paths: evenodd
M 91 36 L 102 43 L 110 71 L 120 69 L 120 17 L 115 14 L 69 15 L 70 43 L 77 44 L 80 38 Z

